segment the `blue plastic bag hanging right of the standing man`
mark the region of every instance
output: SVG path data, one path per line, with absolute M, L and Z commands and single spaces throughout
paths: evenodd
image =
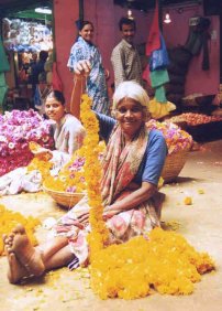
M 152 52 L 149 60 L 149 71 L 163 69 L 169 65 L 169 57 L 164 42 L 164 37 L 160 34 L 162 46 L 158 50 Z

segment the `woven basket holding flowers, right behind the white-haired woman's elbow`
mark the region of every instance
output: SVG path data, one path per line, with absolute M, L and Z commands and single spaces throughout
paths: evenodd
M 180 150 L 178 152 L 168 154 L 162 172 L 162 178 L 165 183 L 174 182 L 182 170 L 189 150 Z

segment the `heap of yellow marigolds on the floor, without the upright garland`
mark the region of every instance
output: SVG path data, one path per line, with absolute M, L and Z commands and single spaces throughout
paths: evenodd
M 208 254 L 200 254 L 177 233 L 155 228 L 143 236 L 112 245 L 91 264 L 91 287 L 101 299 L 135 299 L 159 293 L 189 294 L 202 274 L 214 268 Z

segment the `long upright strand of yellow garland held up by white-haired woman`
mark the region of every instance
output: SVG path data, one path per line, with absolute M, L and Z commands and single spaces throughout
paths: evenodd
M 100 191 L 101 180 L 101 163 L 99 161 L 99 153 L 101 151 L 99 146 L 99 122 L 91 111 L 91 99 L 87 95 L 82 95 L 80 118 L 87 131 L 84 140 L 84 156 L 85 163 L 85 179 L 88 193 L 88 203 L 90 206 L 89 222 L 91 225 L 91 233 L 88 235 L 90 248 L 90 261 L 97 260 L 97 254 L 103 248 L 108 242 L 109 232 L 106 223 L 102 219 L 102 197 Z

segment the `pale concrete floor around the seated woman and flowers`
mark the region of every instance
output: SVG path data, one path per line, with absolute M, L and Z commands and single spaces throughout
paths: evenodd
M 203 194 L 199 194 L 199 190 Z M 0 258 L 0 310 L 91 310 L 91 311 L 218 311 L 222 310 L 222 140 L 204 143 L 200 151 L 190 152 L 178 182 L 165 185 L 167 199 L 163 221 L 174 223 L 197 249 L 208 251 L 214 259 L 217 271 L 202 277 L 195 292 L 187 297 L 154 293 L 145 299 L 102 301 L 89 288 L 87 271 L 68 271 L 67 268 L 48 274 L 35 282 L 22 286 L 8 283 L 7 260 Z M 192 205 L 184 197 L 191 195 Z M 46 194 L 21 194 L 0 197 L 8 208 L 44 221 L 64 213 Z M 37 229 L 43 239 L 46 229 Z

